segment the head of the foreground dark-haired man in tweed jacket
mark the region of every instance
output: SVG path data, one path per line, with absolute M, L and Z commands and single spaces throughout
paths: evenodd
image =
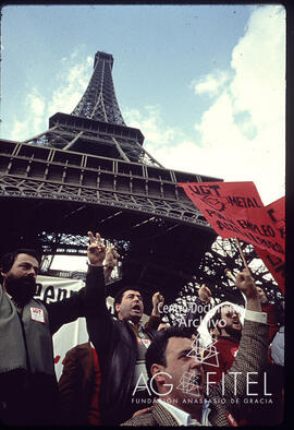
M 201 408 L 205 383 L 204 368 L 193 354 L 192 343 L 189 331 L 173 326 L 157 332 L 146 353 L 152 391 L 188 413 Z

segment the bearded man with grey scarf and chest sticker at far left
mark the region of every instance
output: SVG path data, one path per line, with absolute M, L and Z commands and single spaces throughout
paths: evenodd
M 19 249 L 0 261 L 0 422 L 44 426 L 58 422 L 58 384 L 52 334 L 84 316 L 84 288 L 69 299 L 34 299 L 40 258 Z

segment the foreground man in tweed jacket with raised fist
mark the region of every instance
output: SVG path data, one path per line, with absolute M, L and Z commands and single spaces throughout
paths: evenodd
M 158 332 L 146 354 L 150 390 L 157 399 L 148 411 L 123 426 L 238 425 L 234 417 L 244 408 L 248 384 L 257 384 L 267 361 L 268 325 L 248 271 L 237 275 L 236 286 L 245 294 L 247 307 L 238 354 L 223 381 L 209 383 L 204 355 L 187 332 L 179 327 Z

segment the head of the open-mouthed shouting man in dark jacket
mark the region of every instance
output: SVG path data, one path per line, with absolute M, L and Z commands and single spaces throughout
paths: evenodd
M 121 289 L 114 297 L 114 313 L 119 320 L 140 321 L 144 304 L 140 292 L 134 287 Z

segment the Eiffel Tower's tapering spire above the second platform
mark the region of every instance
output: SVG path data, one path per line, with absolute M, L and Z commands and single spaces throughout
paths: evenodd
M 114 92 L 112 67 L 111 53 L 96 52 L 91 79 L 72 115 L 125 126 Z

